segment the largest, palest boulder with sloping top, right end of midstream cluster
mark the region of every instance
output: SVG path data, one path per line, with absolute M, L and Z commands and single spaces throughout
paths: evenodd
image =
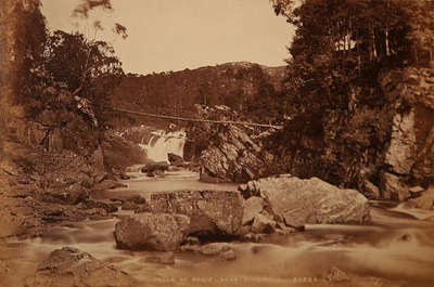
M 247 197 L 261 197 L 273 220 L 290 226 L 365 223 L 369 220 L 368 199 L 363 195 L 354 190 L 341 190 L 317 178 L 264 178 L 248 182 L 240 190 Z M 255 220 L 258 226 L 258 223 L 272 223 L 264 217 L 255 217 Z

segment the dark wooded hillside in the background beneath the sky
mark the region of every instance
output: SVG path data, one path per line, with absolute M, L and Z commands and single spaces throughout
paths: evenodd
M 246 119 L 268 122 L 284 113 L 279 105 L 285 67 L 237 62 L 146 76 L 126 76 L 113 104 L 131 110 L 191 116 L 194 104 L 227 105 Z

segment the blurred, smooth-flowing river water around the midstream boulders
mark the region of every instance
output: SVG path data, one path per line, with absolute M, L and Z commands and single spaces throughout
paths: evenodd
M 157 178 L 132 175 L 137 178 L 125 181 L 128 187 L 106 196 L 235 188 L 234 184 L 201 183 L 199 174 L 190 171 Z M 305 232 L 270 235 L 260 243 L 233 242 L 234 261 L 176 252 L 173 265 L 146 262 L 151 251 L 116 249 L 117 219 L 68 223 L 52 227 L 43 238 L 9 240 L 0 256 L 20 266 L 8 283 L 12 287 L 23 286 L 38 262 L 64 246 L 113 263 L 143 286 L 434 286 L 434 211 L 390 201 L 370 204 L 369 225 L 307 225 Z M 349 282 L 336 282 L 346 276 Z

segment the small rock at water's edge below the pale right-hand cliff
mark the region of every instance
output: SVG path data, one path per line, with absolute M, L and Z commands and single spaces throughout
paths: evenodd
M 384 199 L 403 201 L 411 197 L 409 187 L 403 182 L 403 179 L 388 172 L 382 173 L 380 187 Z

